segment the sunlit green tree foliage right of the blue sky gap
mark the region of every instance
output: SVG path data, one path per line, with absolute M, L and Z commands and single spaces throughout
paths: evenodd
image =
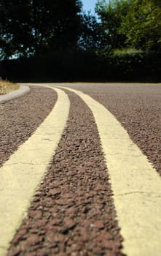
M 111 48 L 161 50 L 160 0 L 101 0 L 95 10 Z

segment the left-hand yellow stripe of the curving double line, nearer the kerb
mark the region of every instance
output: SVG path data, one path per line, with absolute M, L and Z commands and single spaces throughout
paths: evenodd
M 0 255 L 6 255 L 66 127 L 70 101 L 59 89 L 58 100 L 36 132 L 0 169 Z

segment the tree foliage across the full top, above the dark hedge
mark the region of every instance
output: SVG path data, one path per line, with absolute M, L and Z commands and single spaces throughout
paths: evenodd
M 81 0 L 0 0 L 1 59 L 76 48 L 161 50 L 160 0 L 98 0 L 95 11 L 98 18 L 83 12 Z

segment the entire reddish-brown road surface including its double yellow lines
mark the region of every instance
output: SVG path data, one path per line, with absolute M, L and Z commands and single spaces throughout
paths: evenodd
M 0 104 L 0 255 L 161 252 L 161 86 L 29 84 Z

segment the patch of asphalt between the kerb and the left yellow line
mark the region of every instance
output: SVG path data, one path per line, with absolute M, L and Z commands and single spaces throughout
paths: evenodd
M 0 166 L 39 127 L 56 99 L 54 90 L 36 87 L 23 97 L 0 103 Z

